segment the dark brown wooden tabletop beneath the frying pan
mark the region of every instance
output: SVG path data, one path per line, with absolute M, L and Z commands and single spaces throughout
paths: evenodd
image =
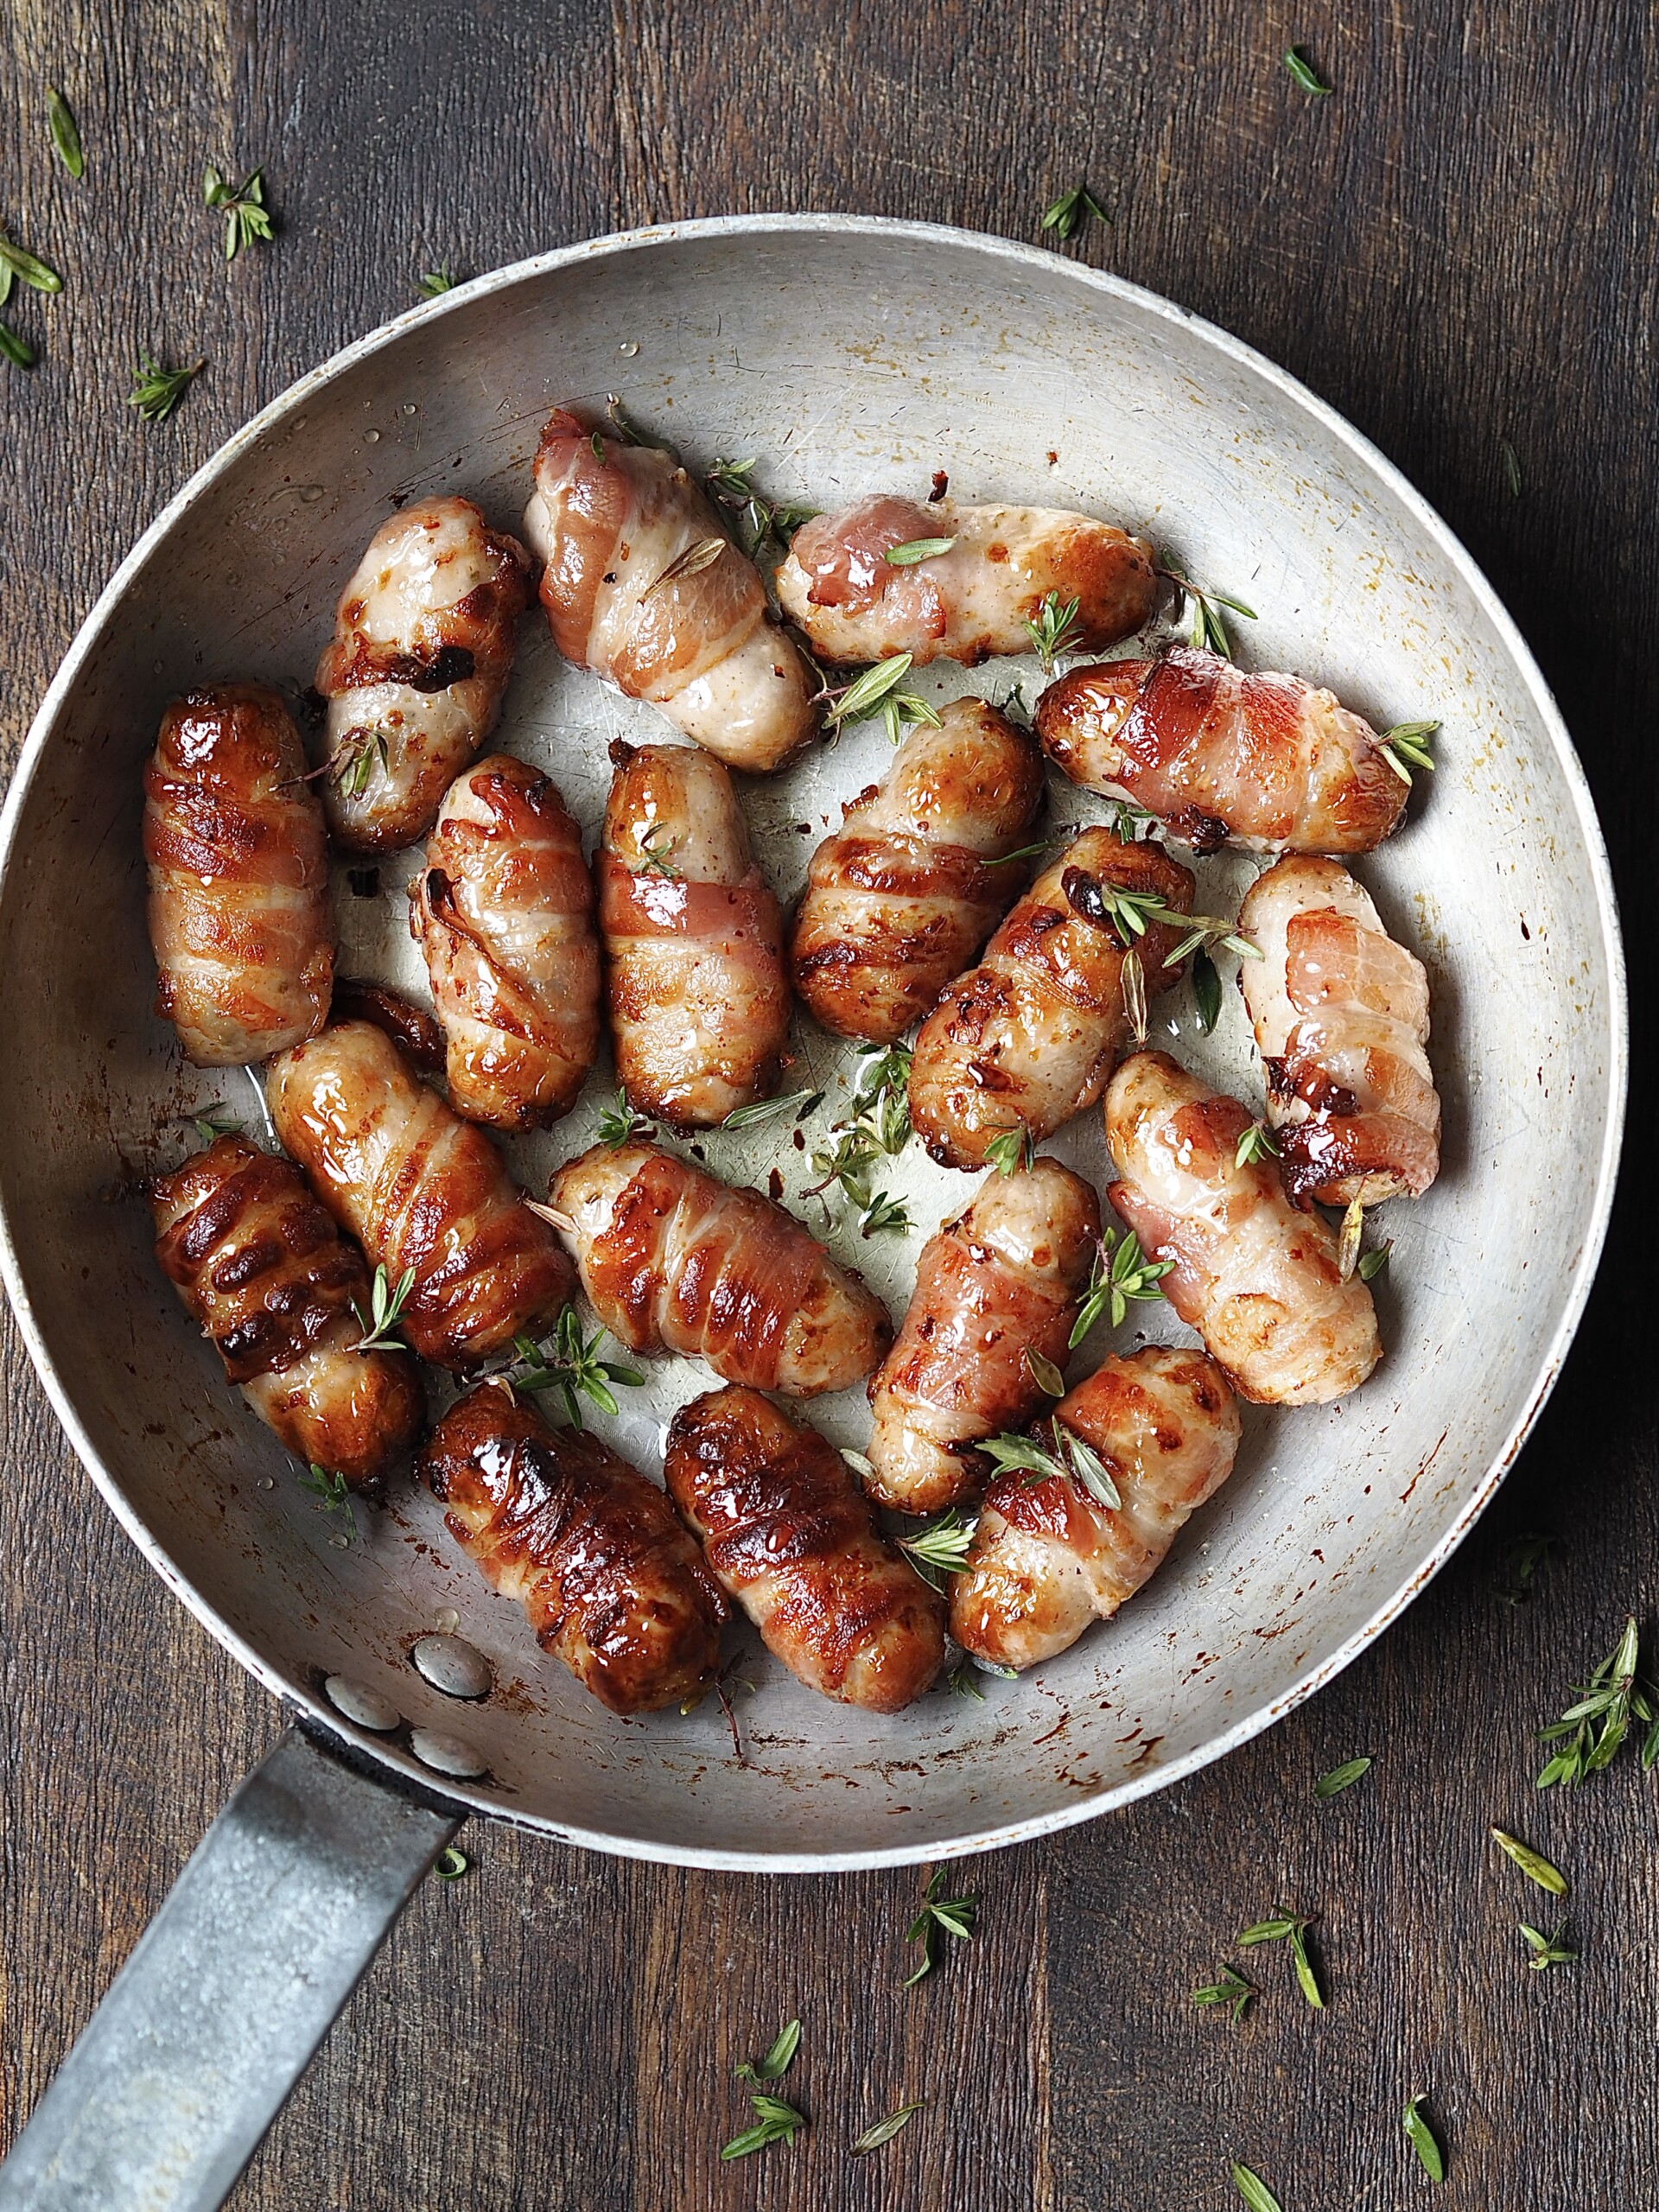
M 1659 597 L 1652 177 L 1659 31 L 1630 0 L 891 7 L 553 0 L 181 9 L 11 0 L 0 223 L 66 274 L 13 301 L 0 372 L 7 761 L 97 586 L 263 400 L 460 274 L 641 219 L 854 208 L 1035 237 L 1086 175 L 1079 250 L 1263 347 L 1360 425 L 1493 575 L 1577 737 L 1632 940 L 1635 1126 L 1652 1002 Z M 1290 38 L 1336 86 L 1287 80 Z M 88 175 L 51 164 L 44 84 Z M 226 270 L 206 159 L 265 164 L 281 237 Z M 139 349 L 208 356 L 179 416 Z M 1506 482 L 1502 442 L 1517 460 Z M 1475 858 L 1475 856 L 1471 856 Z M 1500 1502 L 1334 1688 L 1128 1814 L 964 1869 L 980 1938 L 900 1991 L 916 1874 L 745 1880 L 473 1827 L 241 2183 L 241 2212 L 1221 2212 L 1245 2157 L 1285 2212 L 1659 2203 L 1655 1787 L 1537 1796 L 1531 1730 L 1650 1617 L 1659 1557 L 1650 1183 L 1637 1168 L 1568 1371 Z M 144 1571 L 7 1318 L 4 2066 L 22 2121 L 279 1714 Z M 1559 1537 L 1500 1604 L 1509 1542 Z M 1371 1752 L 1332 1805 L 1314 1776 Z M 1573 1871 L 1577 1966 L 1522 1964 Z M 1276 1900 L 1318 1913 L 1329 2011 L 1256 1953 L 1232 2028 L 1188 2002 Z M 1239 1955 L 1237 1951 L 1230 1955 Z M 730 2066 L 799 2013 L 794 2152 L 721 2168 Z M 872 2159 L 849 2139 L 929 2097 Z M 1429 2192 L 1433 2194 L 1433 2192 Z

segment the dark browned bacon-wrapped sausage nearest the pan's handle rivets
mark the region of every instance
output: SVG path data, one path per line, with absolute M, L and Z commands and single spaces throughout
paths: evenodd
M 728 1617 L 664 1493 L 582 1429 L 549 1429 L 493 1383 L 458 1398 L 418 1473 L 484 1582 L 611 1712 L 703 1694 Z

